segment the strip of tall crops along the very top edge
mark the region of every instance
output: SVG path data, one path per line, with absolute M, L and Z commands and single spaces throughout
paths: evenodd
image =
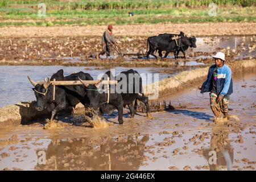
M 254 0 L 87 0 L 87 1 L 53 1 L 53 0 L 44 0 L 44 1 L 7 1 L 2 0 L 0 7 L 5 7 L 12 4 L 19 5 L 32 5 L 39 2 L 46 3 L 47 7 L 51 10 L 61 9 L 61 10 L 100 10 L 100 9 L 158 9 L 161 7 L 201 7 L 208 6 L 209 3 L 216 3 L 216 5 L 238 5 L 238 6 L 255 6 Z

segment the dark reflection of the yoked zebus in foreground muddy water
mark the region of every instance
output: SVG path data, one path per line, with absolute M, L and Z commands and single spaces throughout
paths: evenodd
M 142 137 L 142 138 L 141 138 Z M 138 170 L 149 137 L 52 140 L 46 150 L 47 164 L 38 170 Z M 39 151 L 36 151 L 38 153 Z

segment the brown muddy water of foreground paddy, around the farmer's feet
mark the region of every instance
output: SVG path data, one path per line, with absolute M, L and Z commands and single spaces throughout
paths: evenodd
M 81 123 L 43 130 L 34 123 L 0 129 L 0 169 L 255 170 L 255 76 L 234 78 L 230 114 L 240 122 L 213 123 L 208 94 L 188 88 L 167 97 L 184 109 L 152 113 L 152 118 L 125 114 L 122 126 L 109 122 L 107 129 L 92 129 Z M 46 165 L 38 163 L 41 152 Z

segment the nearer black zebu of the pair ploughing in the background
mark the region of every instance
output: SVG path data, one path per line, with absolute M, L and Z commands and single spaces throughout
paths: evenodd
M 182 32 L 183 33 L 183 32 Z M 159 56 L 162 57 L 162 51 L 166 51 L 166 54 L 164 55 L 164 58 L 167 57 L 167 55 L 170 52 L 175 52 L 180 48 L 182 50 L 182 47 L 184 46 L 191 46 L 191 42 L 188 40 L 187 37 L 180 34 L 177 36 L 180 36 L 179 39 L 172 40 L 172 37 L 174 37 L 175 34 L 160 34 L 159 36 L 151 36 L 147 39 L 147 47 L 149 46 L 149 50 L 147 52 L 147 58 L 151 54 L 155 56 L 157 59 L 157 56 L 154 54 L 156 50 L 159 51 Z M 175 55 L 176 58 L 176 55 Z

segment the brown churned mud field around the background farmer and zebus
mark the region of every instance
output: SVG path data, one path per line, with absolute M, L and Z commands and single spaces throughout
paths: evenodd
M 146 54 L 147 36 L 117 36 L 123 54 Z M 198 36 L 197 47 L 189 48 L 187 60 L 174 60 L 173 53 L 164 60 L 153 56 L 145 59 L 140 56 L 118 57 L 114 48 L 112 56 L 96 59 L 101 51 L 100 36 L 65 36 L 52 38 L 0 38 L 0 65 L 65 65 L 100 67 L 177 67 L 202 66 L 209 64 L 210 56 L 216 51 L 226 53 L 227 60 L 241 60 L 255 57 L 255 35 L 246 36 Z M 158 55 L 158 54 L 157 54 Z

